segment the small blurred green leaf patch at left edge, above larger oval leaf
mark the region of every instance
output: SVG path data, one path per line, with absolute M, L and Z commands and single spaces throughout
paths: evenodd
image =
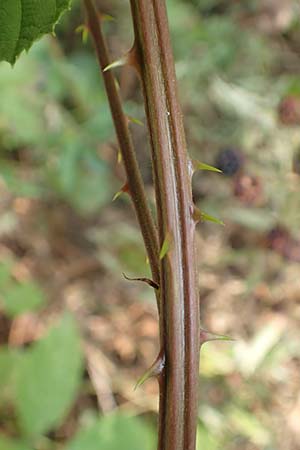
M 10 317 L 15 317 L 40 309 L 45 304 L 45 297 L 36 283 L 28 281 L 8 285 L 1 294 L 1 303 L 3 303 L 6 313 Z

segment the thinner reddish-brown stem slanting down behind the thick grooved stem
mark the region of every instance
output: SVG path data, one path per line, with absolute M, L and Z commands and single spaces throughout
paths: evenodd
M 145 242 L 153 280 L 156 283 L 159 283 L 159 246 L 157 230 L 146 199 L 144 184 L 128 129 L 128 120 L 123 112 L 121 98 L 116 87 L 113 73 L 111 71 L 103 72 L 105 67 L 107 67 L 111 61 L 101 31 L 99 14 L 94 6 L 93 0 L 84 0 L 84 5 L 87 16 L 87 25 L 94 41 L 97 59 L 104 78 L 120 151 L 126 170 L 127 183 Z

